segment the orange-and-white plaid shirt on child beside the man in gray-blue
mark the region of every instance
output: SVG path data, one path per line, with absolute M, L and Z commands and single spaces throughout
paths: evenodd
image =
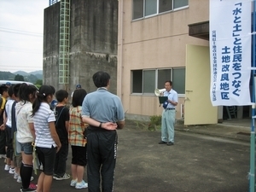
M 71 108 L 69 111 L 69 130 L 68 130 L 68 141 L 73 146 L 84 147 L 86 139 L 84 139 L 84 130 L 88 124 L 84 124 L 82 121 L 82 107 Z

